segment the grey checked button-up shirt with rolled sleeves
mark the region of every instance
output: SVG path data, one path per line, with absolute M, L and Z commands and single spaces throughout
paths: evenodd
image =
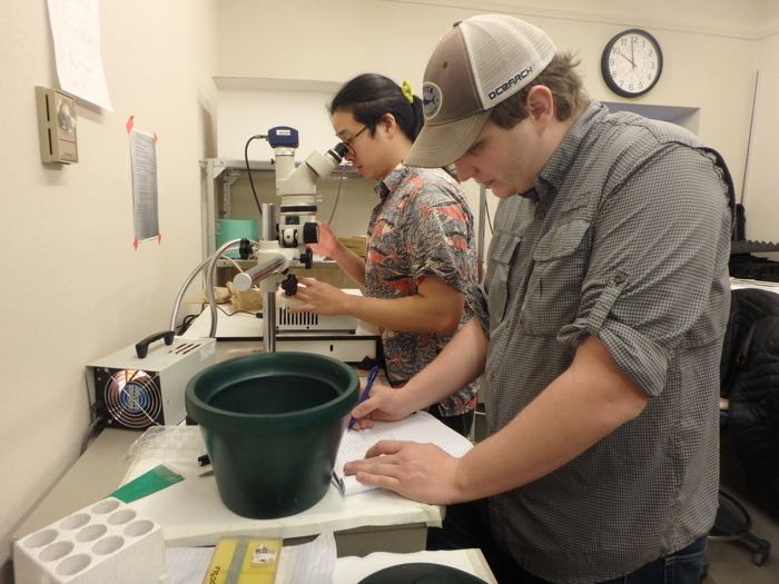
M 500 204 L 476 310 L 490 430 L 586 336 L 651 397 L 571 463 L 490 498 L 494 537 L 542 578 L 614 578 L 713 523 L 732 195 L 717 160 L 676 126 L 592 103 L 535 188 Z

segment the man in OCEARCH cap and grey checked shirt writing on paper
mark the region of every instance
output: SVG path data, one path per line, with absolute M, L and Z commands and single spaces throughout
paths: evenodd
M 346 471 L 450 505 L 428 543 L 481 547 L 501 582 L 697 584 L 732 181 L 683 129 L 590 101 L 574 66 L 507 16 L 435 48 L 405 164 L 454 162 L 502 199 L 485 283 L 441 355 L 353 415 L 400 419 L 484 374 L 490 437 L 462 458 L 381 442 Z

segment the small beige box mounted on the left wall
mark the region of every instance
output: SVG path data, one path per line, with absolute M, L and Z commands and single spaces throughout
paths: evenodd
M 59 89 L 36 87 L 40 159 L 43 162 L 78 162 L 76 98 Z

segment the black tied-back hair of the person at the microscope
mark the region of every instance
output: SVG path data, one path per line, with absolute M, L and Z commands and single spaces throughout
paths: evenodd
M 351 111 L 373 135 L 385 113 L 392 113 L 403 133 L 413 142 L 425 122 L 422 100 L 413 96 L 410 102 L 401 87 L 377 73 L 363 73 L 344 83 L 328 106 L 331 116 L 338 110 Z

